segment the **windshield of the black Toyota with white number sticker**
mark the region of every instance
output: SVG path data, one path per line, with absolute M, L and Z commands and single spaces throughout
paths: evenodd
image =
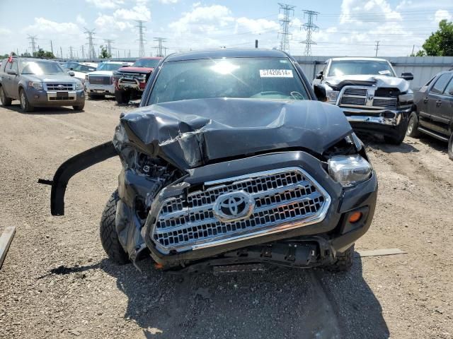
M 202 59 L 164 64 L 149 105 L 212 97 L 309 99 L 289 59 Z

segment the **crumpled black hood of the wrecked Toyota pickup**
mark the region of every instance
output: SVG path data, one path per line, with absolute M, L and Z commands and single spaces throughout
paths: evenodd
M 322 154 L 351 132 L 343 111 L 311 100 L 197 99 L 141 107 L 120 119 L 113 143 L 180 169 L 285 148 Z

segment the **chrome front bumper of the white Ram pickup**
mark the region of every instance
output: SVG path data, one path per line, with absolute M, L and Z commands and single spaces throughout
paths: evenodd
M 404 109 L 367 110 L 340 107 L 356 132 L 377 132 L 388 136 L 398 136 L 408 124 L 412 107 Z

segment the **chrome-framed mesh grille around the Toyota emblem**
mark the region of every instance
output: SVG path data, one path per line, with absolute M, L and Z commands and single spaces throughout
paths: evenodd
M 217 199 L 246 192 L 254 201 L 251 214 L 222 222 L 214 215 Z M 257 232 L 278 232 L 319 222 L 330 197 L 299 167 L 249 174 L 214 184 L 188 196 L 166 199 L 151 230 L 151 239 L 164 251 L 188 249 Z

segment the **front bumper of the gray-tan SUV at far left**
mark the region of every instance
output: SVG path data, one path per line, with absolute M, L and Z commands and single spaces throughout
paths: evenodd
M 69 90 L 67 96 L 59 97 L 56 91 L 36 90 L 26 91 L 28 102 L 35 107 L 79 106 L 85 102 L 84 90 Z

